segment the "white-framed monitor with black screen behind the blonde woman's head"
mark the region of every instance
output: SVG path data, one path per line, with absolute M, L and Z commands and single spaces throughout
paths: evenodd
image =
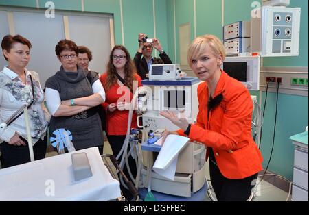
M 222 69 L 248 90 L 260 90 L 260 56 L 227 57 Z

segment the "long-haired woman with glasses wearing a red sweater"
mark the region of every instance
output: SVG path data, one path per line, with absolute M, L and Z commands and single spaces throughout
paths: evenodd
M 128 112 L 130 101 L 137 87 L 141 86 L 141 77 L 130 58 L 128 50 L 122 45 L 116 45 L 109 56 L 107 72 L 100 77 L 106 90 L 106 134 L 115 156 L 118 155 L 126 138 Z M 133 113 L 131 128 L 137 127 L 137 115 Z M 136 164 L 133 157 L 128 157 L 131 173 L 136 176 Z M 128 175 L 126 166 L 124 173 Z M 121 186 L 126 199 L 132 199 L 128 190 Z

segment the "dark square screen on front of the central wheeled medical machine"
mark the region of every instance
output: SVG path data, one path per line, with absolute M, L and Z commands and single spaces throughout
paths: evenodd
M 165 108 L 185 108 L 185 90 L 164 90 Z

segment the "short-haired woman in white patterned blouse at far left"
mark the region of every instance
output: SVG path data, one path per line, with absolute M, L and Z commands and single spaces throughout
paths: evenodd
M 32 45 L 23 36 L 7 35 L 3 37 L 1 47 L 8 66 L 0 72 L 0 123 L 6 122 L 27 103 L 34 159 L 42 159 L 47 146 L 45 115 L 48 117 L 48 113 L 44 111 L 44 93 L 38 73 L 25 68 L 30 61 Z M 5 129 L 0 130 L 0 143 L 2 168 L 30 162 L 24 114 L 14 117 Z

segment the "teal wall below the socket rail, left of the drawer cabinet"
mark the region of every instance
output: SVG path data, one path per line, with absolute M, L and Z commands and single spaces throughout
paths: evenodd
M 265 92 L 262 93 L 262 105 L 264 105 L 264 99 Z M 264 168 L 269 160 L 273 142 L 275 101 L 276 94 L 268 92 L 261 141 Z M 308 97 L 279 94 L 275 147 L 268 170 L 292 180 L 294 147 L 289 137 L 304 132 L 307 125 Z

